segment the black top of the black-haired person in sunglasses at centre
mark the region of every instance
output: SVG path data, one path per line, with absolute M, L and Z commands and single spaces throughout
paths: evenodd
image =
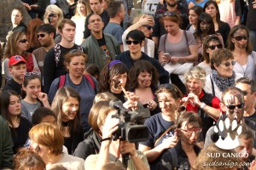
M 125 63 L 129 70 L 134 65 L 134 61 L 133 59 L 131 59 L 131 54 L 129 50 L 115 56 L 115 59 L 118 59 Z M 155 69 L 158 71 L 160 75 L 160 84 L 169 83 L 169 73 L 164 69 L 162 65 L 160 65 L 157 59 L 150 58 L 147 54 L 144 54 L 143 52 L 142 57 L 138 60 L 142 59 L 148 60 L 152 65 L 154 65 Z

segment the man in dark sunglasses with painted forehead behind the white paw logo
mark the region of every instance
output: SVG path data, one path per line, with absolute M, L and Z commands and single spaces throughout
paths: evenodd
M 253 138 L 256 139 L 256 123 L 248 121 L 243 117 L 244 106 L 244 95 L 241 89 L 236 87 L 226 88 L 222 94 L 222 101 L 220 103 L 220 107 L 223 111 L 225 111 L 225 114 L 218 118 L 216 127 L 218 128 L 218 122 L 220 120 L 225 121 L 226 118 L 229 118 L 230 122 L 232 122 L 232 126 L 234 124 L 234 121 L 237 122 L 237 127 L 239 127 L 240 124 L 246 124 L 247 127 L 252 130 Z M 224 124 L 226 125 L 226 122 L 224 122 Z M 235 129 L 231 129 L 232 126 L 228 128 L 227 126 L 224 126 L 224 129 L 219 130 L 218 133 L 214 132 L 214 126 L 210 127 L 207 131 L 207 137 L 204 147 L 206 148 L 212 142 L 217 142 L 219 136 L 221 136 L 222 139 L 225 139 L 227 137 L 227 133 L 232 133 L 233 131 L 236 131 L 237 127 Z M 253 144 L 253 147 L 256 148 L 255 142 Z

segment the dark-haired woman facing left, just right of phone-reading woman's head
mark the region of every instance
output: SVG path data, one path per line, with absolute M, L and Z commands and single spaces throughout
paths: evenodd
M 191 31 L 192 33 L 195 32 L 198 18 L 202 12 L 203 8 L 201 8 L 201 6 L 194 6 L 189 9 L 189 26 L 187 27 L 187 30 Z

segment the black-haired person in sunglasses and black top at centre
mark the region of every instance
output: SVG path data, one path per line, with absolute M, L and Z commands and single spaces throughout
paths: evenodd
M 152 65 L 154 65 L 156 70 L 159 71 L 160 84 L 169 83 L 169 73 L 162 65 L 160 65 L 159 61 L 149 57 L 141 51 L 141 48 L 144 45 L 144 39 L 145 36 L 142 31 L 130 31 L 126 37 L 126 44 L 128 45 L 129 50 L 117 55 L 115 59 L 125 63 L 128 69 L 131 69 L 138 60 L 148 60 Z

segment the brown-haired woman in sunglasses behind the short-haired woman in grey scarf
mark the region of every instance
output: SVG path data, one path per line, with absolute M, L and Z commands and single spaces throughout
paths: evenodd
M 201 68 L 205 69 L 207 76 L 212 73 L 211 62 L 212 53 L 220 48 L 223 48 L 223 42 L 219 39 L 219 37 L 215 35 L 210 35 L 206 37 L 203 43 L 203 61 L 198 64 Z

